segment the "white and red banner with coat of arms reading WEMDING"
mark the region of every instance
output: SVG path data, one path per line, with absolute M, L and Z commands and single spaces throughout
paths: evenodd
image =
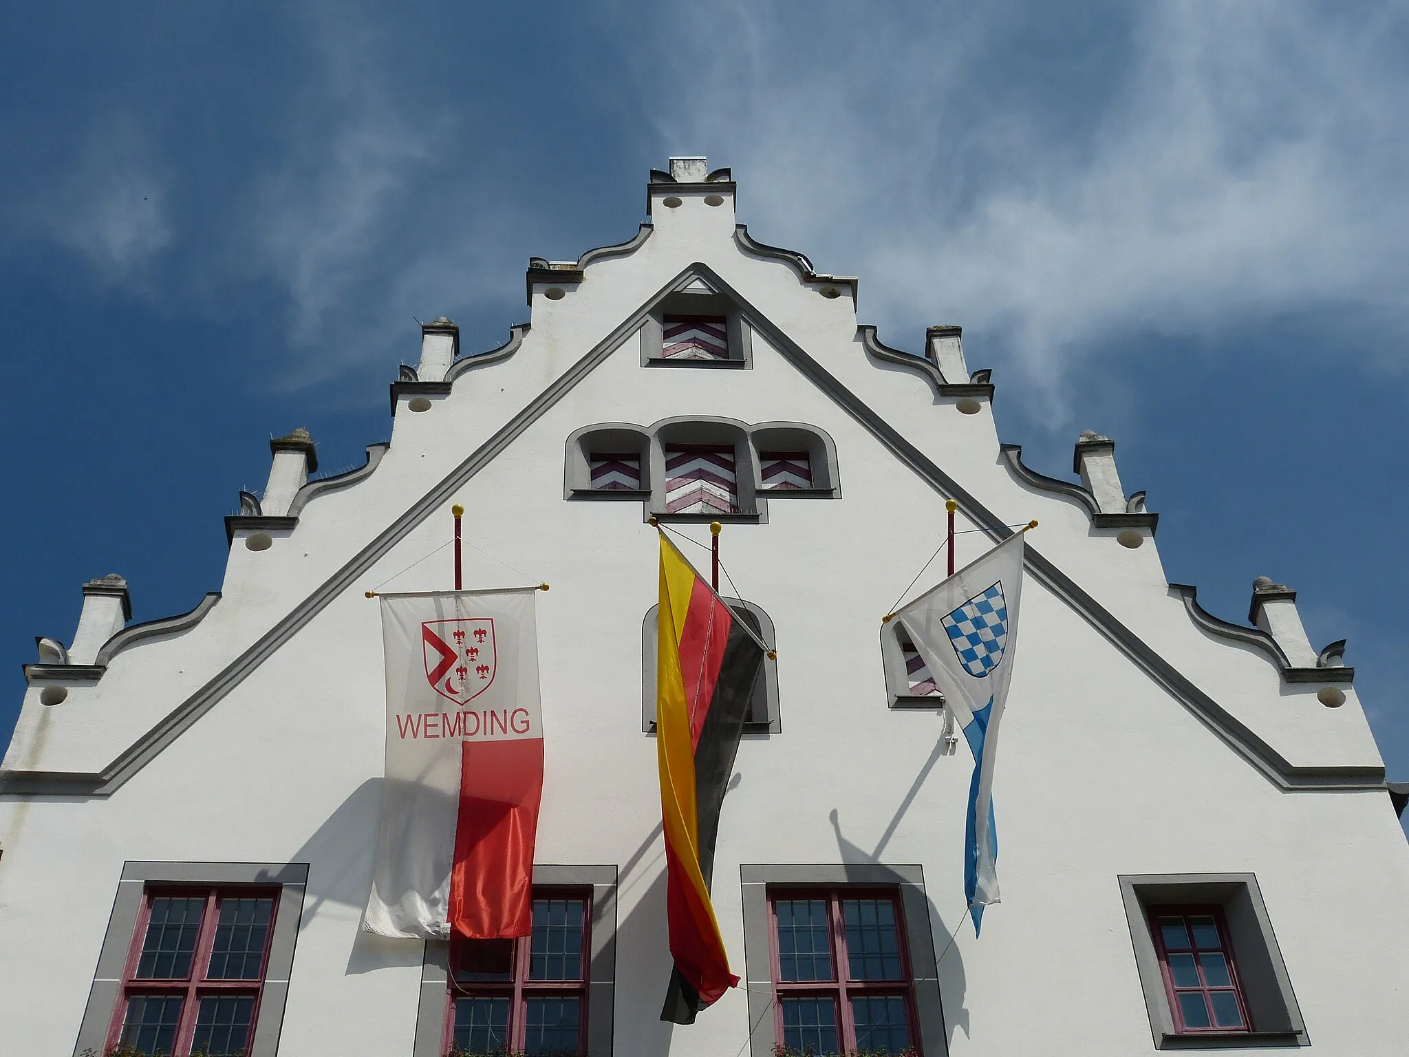
M 386 775 L 368 932 L 531 930 L 542 795 L 537 591 L 380 595 Z

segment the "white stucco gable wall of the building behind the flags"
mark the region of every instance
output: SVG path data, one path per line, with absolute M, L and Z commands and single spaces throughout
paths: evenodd
M 1326 709 L 1316 685 L 1285 685 L 1264 654 L 1195 627 L 1153 540 L 1120 547 L 1078 503 L 1016 481 L 988 404 L 960 414 L 920 375 L 868 358 L 848 297 L 827 300 L 793 266 L 740 249 L 731 196 L 716 209 L 700 196 L 675 210 L 657 203 L 654 217 L 641 247 L 589 265 L 562 300 L 538 288 L 511 358 L 461 376 L 426 413 L 403 400 L 369 478 L 314 499 L 266 551 L 237 537 L 224 596 L 196 627 L 117 654 L 59 706 L 31 688 L 4 767 L 100 771 L 696 261 L 1002 520 L 1038 519 L 1036 548 L 1289 761 L 1379 764 L 1353 691 Z M 420 944 L 356 927 L 383 737 L 380 627 L 364 591 L 441 545 L 452 502 L 466 507 L 475 547 L 552 585 L 538 596 L 548 737 L 537 858 L 623 868 L 616 1053 L 738 1050 L 743 991 L 693 1027 L 657 1019 L 669 967 L 664 853 L 655 744 L 640 731 L 654 530 L 640 503 L 562 497 L 573 430 L 693 414 L 826 430 L 843 492 L 769 499 L 768 524 L 723 536 L 734 582 L 776 627 L 782 707 L 781 734 L 745 738 L 724 808 L 714 891 L 735 971 L 741 863 L 920 864 L 951 1053 L 1153 1053 L 1117 874 L 1255 872 L 1313 1050 L 1403 1051 L 1409 848 L 1388 796 L 1277 788 L 1036 582 L 999 754 L 1005 902 L 982 939 L 961 925 L 972 761 L 962 746 L 938 754 L 936 715 L 886 709 L 878 647 L 881 616 L 938 541 L 944 496 L 758 334 L 750 371 L 644 369 L 628 337 L 111 796 L 0 796 L 3 1050 L 72 1053 L 123 863 L 179 860 L 311 865 L 282 1054 L 410 1053 Z M 683 531 L 706 538 L 703 526 Z M 961 540 L 961 561 L 986 545 Z M 471 548 L 465 569 L 466 586 L 523 582 Z M 389 589 L 442 588 L 448 576 L 444 551 Z

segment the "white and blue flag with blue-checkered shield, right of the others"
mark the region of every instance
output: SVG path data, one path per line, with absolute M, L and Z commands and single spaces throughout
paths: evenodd
M 1017 644 L 1023 533 L 924 592 L 896 613 L 944 692 L 974 751 L 964 847 L 964 896 L 976 936 L 998 899 L 993 753 Z

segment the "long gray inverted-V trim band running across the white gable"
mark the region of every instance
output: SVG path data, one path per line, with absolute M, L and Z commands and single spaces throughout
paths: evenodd
M 65 774 L 11 771 L 0 775 L 3 793 L 68 793 L 107 796 L 120 789 L 149 760 L 175 741 L 196 720 L 213 709 L 230 691 L 244 682 L 261 664 L 273 655 L 296 631 L 323 612 L 333 599 L 355 586 L 358 578 L 410 534 L 441 506 L 448 503 L 480 469 L 507 448 L 524 430 L 542 417 L 564 396 L 603 364 L 623 341 L 640 330 L 647 316 L 668 295 L 682 289 L 696 276 L 704 279 L 720 293 L 733 297 L 750 326 L 778 350 L 788 362 L 809 378 L 838 407 L 857 420 L 916 476 L 937 493 L 958 502 L 960 509 L 976 524 L 985 526 L 985 533 L 995 541 L 1006 540 L 1012 530 L 988 510 L 958 482 L 931 462 L 919 448 L 907 441 L 885 419 L 876 414 L 855 393 L 827 372 L 803 348 L 769 321 L 734 288 L 726 283 L 707 265 L 696 262 L 657 290 L 641 307 L 617 324 L 602 341 L 593 345 L 581 359 L 558 376 L 547 389 L 534 397 L 521 412 L 504 423 L 489 440 L 480 444 L 455 469 L 445 475 L 430 492 L 411 505 L 400 517 L 378 534 L 366 547 L 358 551 L 337 572 L 324 581 L 309 598 L 294 606 L 279 623 L 269 629 L 240 657 L 217 672 L 192 696 L 178 705 L 147 734 L 125 748 L 113 762 L 97 774 Z M 1110 641 L 1131 662 L 1151 679 L 1179 700 L 1210 731 L 1222 738 L 1239 755 L 1260 769 L 1278 788 L 1285 791 L 1361 791 L 1384 789 L 1382 767 L 1296 767 L 1275 748 L 1262 741 L 1244 723 L 1223 709 L 1209 695 L 1195 686 L 1172 664 L 1165 661 L 1130 629 L 1120 623 L 1109 610 L 1044 558 L 1034 547 L 1026 548 L 1027 569 L 1053 593 L 1071 606 L 1096 631 Z

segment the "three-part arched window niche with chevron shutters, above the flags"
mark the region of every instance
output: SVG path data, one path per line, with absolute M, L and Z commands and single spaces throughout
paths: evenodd
M 566 444 L 564 497 L 641 499 L 644 519 L 768 523 L 768 499 L 840 499 L 837 447 L 816 426 L 679 416 L 602 423 Z

